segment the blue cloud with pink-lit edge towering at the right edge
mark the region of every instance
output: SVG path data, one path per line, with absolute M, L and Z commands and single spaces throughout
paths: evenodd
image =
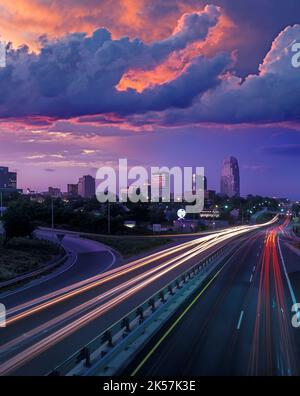
M 245 80 L 228 73 L 215 89 L 200 95 L 184 110 L 157 115 L 162 125 L 189 123 L 270 123 L 299 121 L 300 70 L 291 63 L 291 46 L 300 40 L 300 25 L 287 27 L 274 40 L 257 75 Z M 135 117 L 135 122 L 143 123 Z

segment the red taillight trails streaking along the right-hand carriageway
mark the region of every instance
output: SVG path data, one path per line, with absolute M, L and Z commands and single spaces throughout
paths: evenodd
M 285 316 L 287 301 L 283 285 L 282 269 L 277 251 L 278 234 L 289 224 L 286 219 L 267 233 L 261 262 L 256 320 L 252 350 L 249 361 L 249 374 L 292 375 L 297 372 L 293 341 L 288 318 Z M 273 297 L 275 297 L 273 299 Z M 272 317 L 271 310 L 276 308 Z M 273 320 L 272 320 L 273 319 Z M 276 327 L 274 327 L 276 320 Z M 278 329 L 278 334 L 274 331 Z M 274 356 L 276 365 L 274 366 Z

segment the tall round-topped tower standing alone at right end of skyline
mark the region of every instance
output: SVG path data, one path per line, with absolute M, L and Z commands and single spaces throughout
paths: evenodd
M 228 197 L 240 196 L 240 171 L 235 157 L 225 158 L 221 169 L 221 194 Z

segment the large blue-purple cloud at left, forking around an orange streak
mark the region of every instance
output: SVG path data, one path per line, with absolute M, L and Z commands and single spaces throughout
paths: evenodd
M 230 63 L 228 55 L 196 56 L 177 79 L 142 94 L 132 89 L 120 92 L 116 85 L 128 70 L 150 70 L 171 53 L 205 40 L 219 16 L 215 6 L 185 14 L 170 37 L 152 44 L 126 37 L 113 40 L 102 28 L 91 37 L 74 33 L 45 40 L 39 54 L 27 47 L 10 49 L 7 67 L 0 70 L 0 117 L 127 115 L 189 106 L 194 97 L 218 84 Z

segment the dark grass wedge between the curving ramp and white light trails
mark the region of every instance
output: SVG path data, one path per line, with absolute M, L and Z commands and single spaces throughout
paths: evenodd
M 110 246 L 124 258 L 138 255 L 171 242 L 169 238 L 111 238 L 98 236 L 84 236 L 84 238 Z

